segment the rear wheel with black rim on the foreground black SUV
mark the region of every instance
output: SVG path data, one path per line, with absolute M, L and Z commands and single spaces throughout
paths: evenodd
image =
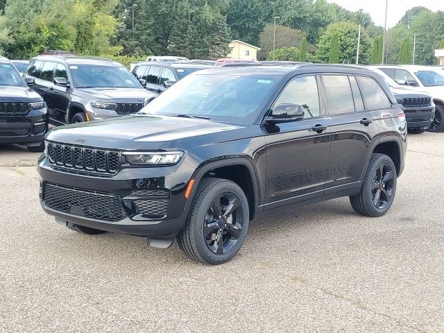
M 353 210 L 370 217 L 386 214 L 395 199 L 396 182 L 396 168 L 391 158 L 384 154 L 373 154 L 361 191 L 355 196 L 350 196 Z

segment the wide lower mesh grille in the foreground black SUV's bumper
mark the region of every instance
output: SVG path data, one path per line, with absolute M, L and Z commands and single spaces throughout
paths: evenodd
M 58 212 L 103 221 L 121 221 L 126 212 L 114 194 L 64 187 L 51 183 L 44 185 L 46 207 Z

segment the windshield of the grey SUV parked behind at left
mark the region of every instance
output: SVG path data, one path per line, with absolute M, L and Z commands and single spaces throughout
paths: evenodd
M 125 67 L 103 65 L 71 65 L 76 88 L 142 88 Z

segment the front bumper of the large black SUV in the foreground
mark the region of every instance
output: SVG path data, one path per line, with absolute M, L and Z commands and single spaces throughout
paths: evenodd
M 173 167 L 123 167 L 115 176 L 94 177 L 55 170 L 43 155 L 39 160 L 37 171 L 41 177 L 40 203 L 42 208 L 46 213 L 56 216 L 59 223 L 74 223 L 89 228 L 135 234 L 148 238 L 175 235 L 185 224 L 187 199 L 184 194 L 194 169 L 183 161 Z M 63 201 L 65 209 L 59 209 L 59 206 L 55 209 L 51 201 L 46 200 L 45 195 L 49 193 L 48 187 L 67 189 L 69 195 L 62 198 L 65 200 Z M 144 191 L 151 193 L 151 191 L 159 190 L 169 192 L 165 214 L 162 216 L 143 214 L 140 207 L 148 207 L 149 209 L 151 204 L 151 201 L 147 200 L 148 205 L 138 205 L 140 200 L 147 198 L 143 195 Z M 78 199 L 71 196 L 71 192 L 75 191 L 87 194 L 88 200 L 92 198 L 89 200 L 90 205 L 85 204 L 85 200 L 80 203 Z M 94 196 L 116 198 L 113 199 L 114 205 L 117 200 L 119 210 L 123 210 L 124 214 L 119 215 L 121 218 L 113 219 L 113 221 L 96 218 L 96 216 L 103 216 L 101 211 L 108 210 L 109 207 L 103 206 L 100 198 Z M 71 202 L 68 202 L 65 198 L 73 199 L 69 199 Z M 69 209 L 66 205 L 70 205 Z M 95 214 L 95 212 L 97 213 Z

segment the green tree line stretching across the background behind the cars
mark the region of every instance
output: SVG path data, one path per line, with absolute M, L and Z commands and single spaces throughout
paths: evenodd
M 383 28 L 368 13 L 325 0 L 0 0 L 0 51 L 27 59 L 47 49 L 121 62 L 148 55 L 216 59 L 228 42 L 262 48 L 261 59 L 359 63 L 382 59 Z M 276 49 L 273 51 L 274 19 Z M 386 62 L 433 64 L 444 12 L 415 7 L 386 33 Z

